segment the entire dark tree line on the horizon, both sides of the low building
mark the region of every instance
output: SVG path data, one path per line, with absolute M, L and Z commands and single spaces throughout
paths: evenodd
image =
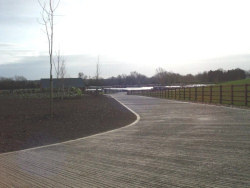
M 186 85 L 200 83 L 220 83 L 233 80 L 250 78 L 250 71 L 242 69 L 205 71 L 196 75 L 187 74 L 180 75 L 178 73 L 168 72 L 163 68 L 156 69 L 156 73 L 152 77 L 147 77 L 136 71 L 129 75 L 121 74 L 116 77 L 107 79 L 88 77 L 82 72 L 78 74 L 82 78 L 86 86 L 141 86 L 141 85 Z M 13 78 L 0 77 L 0 90 L 7 89 L 30 89 L 39 88 L 40 81 L 30 81 L 23 76 L 15 76 Z

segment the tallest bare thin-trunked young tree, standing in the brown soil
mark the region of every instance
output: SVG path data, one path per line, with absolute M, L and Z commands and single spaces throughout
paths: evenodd
M 53 75 L 52 75 L 52 64 L 53 64 L 53 42 L 54 42 L 54 16 L 55 11 L 60 3 L 60 0 L 56 2 L 54 0 L 38 0 L 39 5 L 42 8 L 41 24 L 45 27 L 45 33 L 48 40 L 49 47 L 49 62 L 50 62 L 50 117 L 53 118 Z

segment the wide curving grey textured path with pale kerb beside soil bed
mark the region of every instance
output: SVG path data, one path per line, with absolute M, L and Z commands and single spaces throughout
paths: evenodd
M 114 97 L 133 125 L 0 154 L 0 187 L 250 187 L 250 111 Z

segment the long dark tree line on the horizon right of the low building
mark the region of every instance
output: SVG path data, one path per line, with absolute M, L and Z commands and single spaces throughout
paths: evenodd
M 205 71 L 196 75 L 187 74 L 180 75 L 178 73 L 168 72 L 163 68 L 157 68 L 156 73 L 152 77 L 147 77 L 136 71 L 129 75 L 122 74 L 116 77 L 107 79 L 100 78 L 98 81 L 95 78 L 88 78 L 87 76 L 79 76 L 84 78 L 87 86 L 133 86 L 133 85 L 185 85 L 198 83 L 220 83 L 233 80 L 240 80 L 250 77 L 250 71 L 242 69 Z

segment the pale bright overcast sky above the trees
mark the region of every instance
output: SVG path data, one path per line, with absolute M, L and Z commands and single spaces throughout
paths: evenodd
M 41 0 L 43 1 L 43 0 Z M 67 77 L 158 67 L 180 74 L 250 70 L 249 0 L 61 0 L 54 52 Z M 0 0 L 0 77 L 49 77 L 48 42 L 37 0 Z

